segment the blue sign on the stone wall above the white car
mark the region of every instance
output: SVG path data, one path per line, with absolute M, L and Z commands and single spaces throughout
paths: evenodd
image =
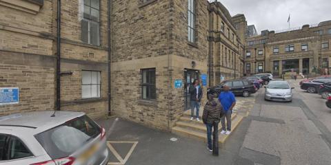
M 0 105 L 19 103 L 19 88 L 0 88 Z

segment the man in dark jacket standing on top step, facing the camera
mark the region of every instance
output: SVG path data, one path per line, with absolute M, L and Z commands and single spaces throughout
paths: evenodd
M 193 87 L 190 88 L 190 103 L 191 103 L 191 120 L 194 119 L 194 109 L 197 109 L 197 121 L 199 122 L 199 108 L 202 98 L 202 88 L 199 85 L 199 80 L 193 81 Z

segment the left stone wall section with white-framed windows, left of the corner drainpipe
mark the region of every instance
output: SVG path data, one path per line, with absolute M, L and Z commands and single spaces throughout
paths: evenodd
M 54 109 L 84 111 L 92 118 L 108 113 L 108 1 L 62 1 L 60 13 L 58 33 L 57 1 L 0 0 L 0 87 L 19 88 L 19 102 L 1 104 L 0 115 Z

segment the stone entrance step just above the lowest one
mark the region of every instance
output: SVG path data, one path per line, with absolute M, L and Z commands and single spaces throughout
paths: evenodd
M 232 121 L 237 117 L 237 113 L 232 113 Z M 186 129 L 192 129 L 192 130 L 199 130 L 199 131 L 203 131 L 203 132 L 207 132 L 207 128 L 205 126 L 205 124 L 203 124 L 202 121 L 197 122 L 196 120 L 191 121 L 190 118 L 183 116 L 179 119 L 178 122 L 176 122 L 176 126 L 180 126 Z M 221 123 L 219 123 L 219 130 L 221 130 Z

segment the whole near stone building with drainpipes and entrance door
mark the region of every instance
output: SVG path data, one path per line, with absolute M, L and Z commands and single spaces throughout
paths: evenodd
M 0 115 L 84 111 L 169 130 L 194 79 L 205 94 L 243 74 L 245 21 L 219 2 L 62 0 L 61 19 L 58 2 L 0 0 L 0 88 L 19 88 Z

